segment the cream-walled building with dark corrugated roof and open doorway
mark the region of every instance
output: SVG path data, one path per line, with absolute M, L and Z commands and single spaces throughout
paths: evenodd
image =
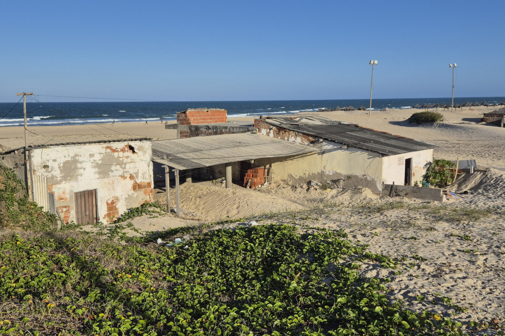
M 433 145 L 323 117 L 267 117 L 256 119 L 255 126 L 259 134 L 319 148 L 298 159 L 295 168 L 283 161 L 272 164 L 276 176 L 284 175 L 290 184 L 341 180 L 349 186 L 355 180 L 377 192 L 382 183 L 421 182 L 433 160 Z

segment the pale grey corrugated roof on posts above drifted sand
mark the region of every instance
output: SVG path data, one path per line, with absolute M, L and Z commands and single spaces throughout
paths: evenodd
M 318 152 L 318 148 L 251 133 L 152 142 L 153 161 L 177 169 Z

